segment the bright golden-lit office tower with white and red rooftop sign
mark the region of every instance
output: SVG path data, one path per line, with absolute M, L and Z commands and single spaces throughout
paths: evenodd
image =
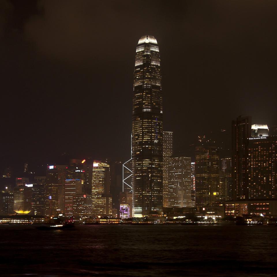
M 94 216 L 112 215 L 110 166 L 103 162 L 93 162 L 91 211 Z

